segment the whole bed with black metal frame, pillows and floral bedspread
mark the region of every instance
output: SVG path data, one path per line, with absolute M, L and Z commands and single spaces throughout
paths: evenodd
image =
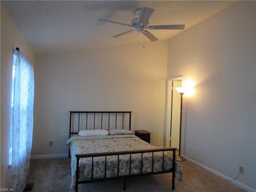
M 78 184 L 172 172 L 182 180 L 175 162 L 176 148 L 157 148 L 131 132 L 131 112 L 70 111 L 70 192 Z M 170 156 L 167 151 L 172 152 Z

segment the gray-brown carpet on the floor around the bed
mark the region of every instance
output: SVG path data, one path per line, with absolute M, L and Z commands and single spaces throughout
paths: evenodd
M 190 162 L 179 164 L 184 176 L 181 182 L 175 180 L 174 192 L 245 192 Z M 126 180 L 126 192 L 170 192 L 171 178 L 171 173 L 129 178 Z M 28 183 L 34 183 L 32 192 L 69 192 L 70 182 L 69 158 L 30 161 Z M 122 192 L 123 180 L 81 184 L 78 189 L 79 192 Z

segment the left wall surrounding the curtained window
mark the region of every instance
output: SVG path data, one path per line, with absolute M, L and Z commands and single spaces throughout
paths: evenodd
M 6 177 L 9 154 L 9 114 L 12 83 L 13 49 L 19 47 L 22 53 L 34 64 L 34 54 L 24 41 L 12 20 L 1 8 L 1 188 L 11 187 L 11 179 Z

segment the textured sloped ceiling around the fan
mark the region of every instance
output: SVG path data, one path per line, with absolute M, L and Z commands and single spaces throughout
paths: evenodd
M 230 6 L 235 1 L 5 1 L 7 14 L 33 52 L 45 54 L 84 48 L 143 43 L 134 31 L 118 38 L 111 36 L 132 29 L 129 26 L 98 21 L 105 18 L 130 24 L 136 9 L 155 9 L 150 25 L 185 24 L 185 29 Z M 182 30 L 150 30 L 165 40 Z M 145 37 L 145 43 L 150 42 Z

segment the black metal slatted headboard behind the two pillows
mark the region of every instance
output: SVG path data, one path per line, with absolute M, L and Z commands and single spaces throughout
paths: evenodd
M 131 113 L 131 111 L 70 111 L 69 138 L 72 134 L 78 134 L 79 130 L 84 129 L 122 128 L 131 130 Z M 75 118 L 77 121 L 74 120 Z M 104 120 L 105 124 L 103 124 Z M 110 122 L 115 122 L 114 127 L 110 126 Z M 88 126 L 88 124 L 90 125 Z M 76 131 L 74 131 L 74 127 L 76 127 Z

